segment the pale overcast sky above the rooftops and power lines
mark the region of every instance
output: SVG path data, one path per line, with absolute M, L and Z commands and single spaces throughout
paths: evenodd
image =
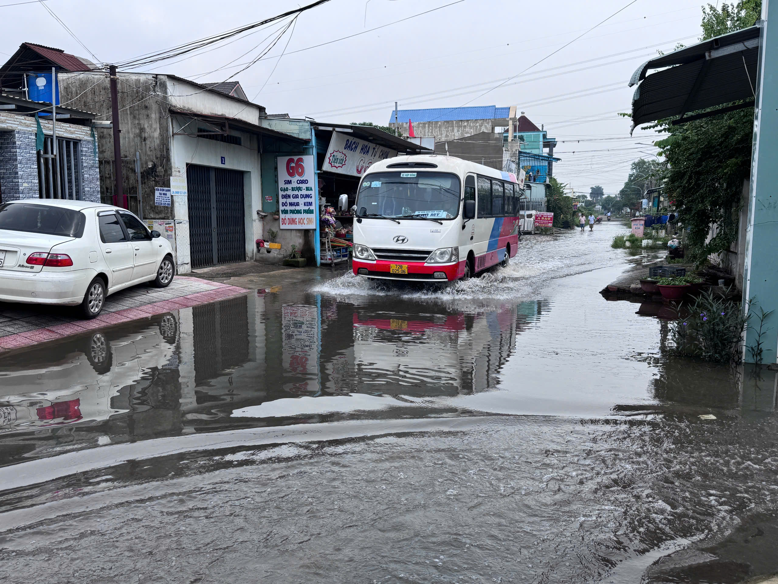
M 105 63 L 310 2 L 47 0 L 87 52 L 40 2 L 8 5 L 20 1 L 0 0 L 5 23 L 0 52 L 11 55 L 27 41 L 94 60 L 91 52 Z M 265 58 L 233 79 L 268 113 L 321 121 L 386 125 L 395 100 L 400 109 L 517 105 L 559 141 L 555 154 L 562 161 L 554 174 L 576 191 L 603 185 L 606 193 L 618 192 L 630 162 L 653 156 L 650 144 L 657 135 L 636 130 L 630 138 L 630 121 L 616 114 L 630 110 L 633 90 L 627 81 L 641 63 L 657 50 L 697 41 L 702 2 L 452 2 L 331 0 L 304 12 Z M 421 14 L 426 11 L 432 12 Z M 266 50 L 286 22 L 142 70 L 200 83 L 224 81 Z M 357 36 L 338 40 L 350 35 Z

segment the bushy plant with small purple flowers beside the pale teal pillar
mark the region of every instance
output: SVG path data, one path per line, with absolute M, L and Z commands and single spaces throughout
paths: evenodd
M 679 308 L 683 310 L 684 306 Z M 706 291 L 687 310 L 685 317 L 671 325 L 678 355 L 717 363 L 741 361 L 741 341 L 750 313 L 743 314 L 740 302 Z

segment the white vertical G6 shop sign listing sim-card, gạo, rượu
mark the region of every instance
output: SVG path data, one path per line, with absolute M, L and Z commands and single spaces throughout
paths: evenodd
M 282 229 L 316 229 L 313 156 L 276 157 Z

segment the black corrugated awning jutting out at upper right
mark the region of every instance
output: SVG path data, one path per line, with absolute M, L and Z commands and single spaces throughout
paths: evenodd
M 700 111 L 738 100 L 751 103 L 723 108 L 704 116 L 753 105 L 759 55 L 759 23 L 673 51 L 640 65 L 629 86 L 633 95 L 633 129 L 640 124 L 678 116 L 691 121 Z M 667 68 L 667 69 L 664 69 Z M 647 75 L 650 69 L 661 71 Z M 702 117 L 696 115 L 693 118 Z

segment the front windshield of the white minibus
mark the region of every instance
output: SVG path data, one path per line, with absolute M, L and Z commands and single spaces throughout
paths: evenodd
M 459 178 L 442 172 L 377 172 L 363 179 L 358 216 L 454 219 L 459 213 Z

